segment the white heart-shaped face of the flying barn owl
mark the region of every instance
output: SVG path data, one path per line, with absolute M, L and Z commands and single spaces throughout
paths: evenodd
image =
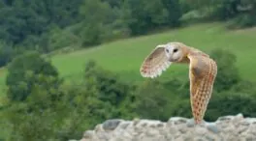
M 177 62 L 183 56 L 181 47 L 176 43 L 167 43 L 165 52 L 170 62 Z

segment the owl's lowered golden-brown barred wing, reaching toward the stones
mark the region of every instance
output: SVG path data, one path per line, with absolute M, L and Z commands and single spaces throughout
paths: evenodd
M 190 103 L 195 122 L 199 124 L 203 121 L 208 107 L 217 74 L 217 65 L 202 52 L 189 53 L 187 57 L 190 60 Z

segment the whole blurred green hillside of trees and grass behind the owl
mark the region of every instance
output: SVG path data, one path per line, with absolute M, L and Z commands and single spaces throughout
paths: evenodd
M 0 140 L 67 140 L 112 118 L 191 118 L 188 67 L 140 74 L 159 43 L 218 64 L 205 119 L 256 116 L 253 0 L 0 2 Z

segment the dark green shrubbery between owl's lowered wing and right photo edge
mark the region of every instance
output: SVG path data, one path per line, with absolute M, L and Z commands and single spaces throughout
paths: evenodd
M 245 117 L 255 117 L 255 95 L 225 91 L 215 93 L 208 104 L 207 121 L 215 121 L 218 117 L 242 113 Z

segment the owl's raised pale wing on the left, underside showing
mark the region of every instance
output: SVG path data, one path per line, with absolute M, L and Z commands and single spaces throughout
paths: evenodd
M 144 59 L 141 67 L 141 74 L 144 77 L 154 78 L 161 75 L 162 71 L 166 71 L 171 62 L 165 53 L 165 47 L 158 45 L 155 49 Z

